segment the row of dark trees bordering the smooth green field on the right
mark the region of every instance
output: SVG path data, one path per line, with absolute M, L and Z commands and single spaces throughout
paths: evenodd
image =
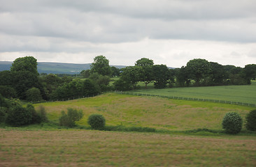
M 131 90 L 136 88 L 138 82 L 143 82 L 145 88 L 152 82 L 155 88 L 244 85 L 255 78 L 255 64 L 242 68 L 196 58 L 187 62 L 186 66 L 170 69 L 166 65 L 154 65 L 148 58 L 141 58 L 134 66 L 121 70 L 120 79 L 115 81 L 114 86 L 118 90 Z

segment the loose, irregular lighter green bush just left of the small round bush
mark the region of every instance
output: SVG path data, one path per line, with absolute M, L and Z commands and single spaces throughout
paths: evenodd
M 76 109 L 68 109 L 67 114 L 62 111 L 62 116 L 59 118 L 59 125 L 64 127 L 74 127 L 76 121 L 83 118 L 83 111 L 77 111 Z

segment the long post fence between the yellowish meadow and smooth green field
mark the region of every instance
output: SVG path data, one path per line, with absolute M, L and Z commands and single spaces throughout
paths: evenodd
M 137 96 L 156 96 L 156 97 L 164 97 L 173 100 L 193 100 L 193 101 L 201 101 L 201 102 L 216 102 L 216 103 L 225 103 L 225 104 L 236 104 L 241 106 L 255 106 L 256 104 L 244 103 L 244 102 L 232 102 L 226 100 L 208 100 L 208 99 L 200 99 L 200 98 L 191 98 L 191 97 L 176 97 L 176 96 L 164 96 L 164 95 L 152 95 L 152 94 L 145 94 L 145 93 L 131 93 L 131 92 L 122 92 L 122 91 L 115 91 L 115 93 L 125 94 L 125 95 L 137 95 Z

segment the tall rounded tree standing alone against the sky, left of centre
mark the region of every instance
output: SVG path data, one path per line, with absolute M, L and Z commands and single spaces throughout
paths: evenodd
M 97 72 L 101 75 L 111 75 L 111 66 L 109 66 L 109 61 L 105 56 L 96 56 L 94 62 L 91 65 L 91 73 Z

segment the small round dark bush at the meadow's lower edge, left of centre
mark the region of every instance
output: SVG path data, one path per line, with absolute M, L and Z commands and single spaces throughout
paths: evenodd
M 88 124 L 92 129 L 103 129 L 105 126 L 106 120 L 101 114 L 94 113 L 88 118 Z

